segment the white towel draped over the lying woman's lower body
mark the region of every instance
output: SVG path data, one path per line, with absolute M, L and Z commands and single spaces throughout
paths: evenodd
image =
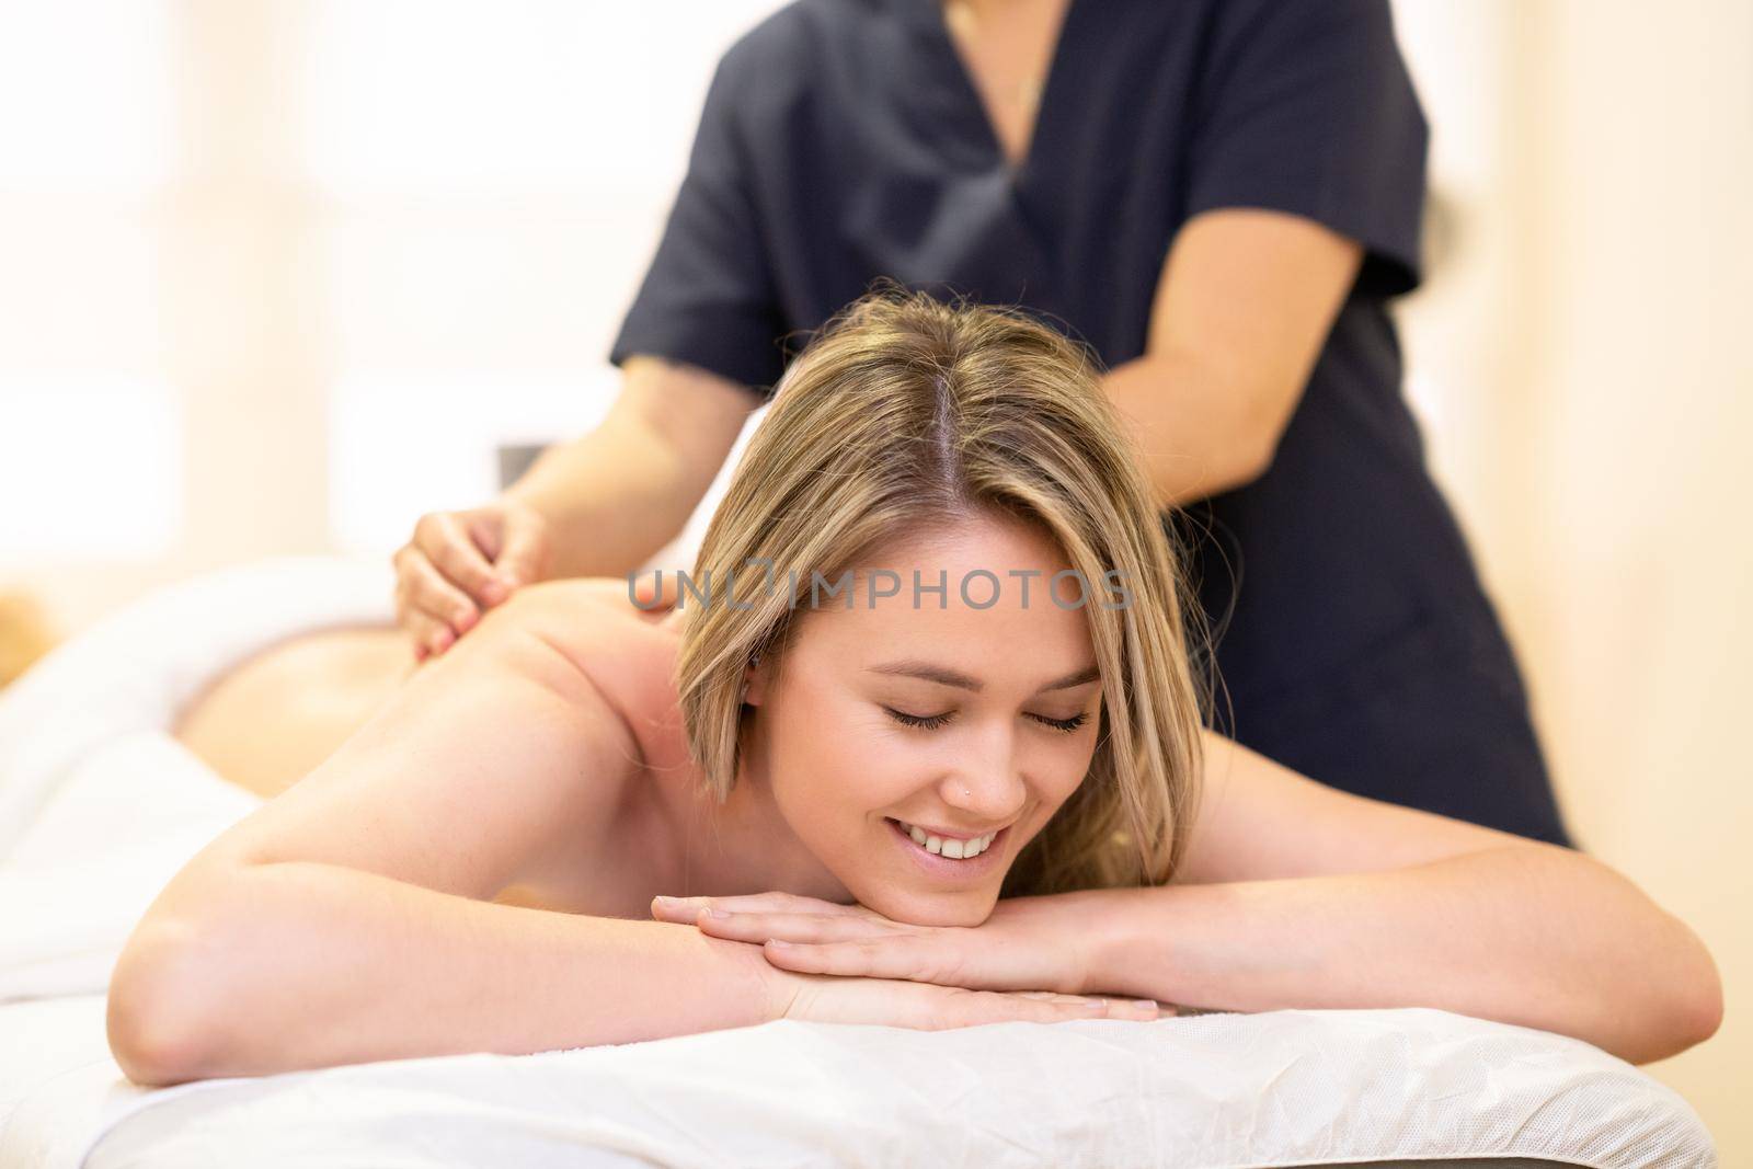
M 0 1003 L 109 985 L 123 941 L 202 845 L 259 806 L 170 736 L 230 666 L 394 619 L 377 561 L 287 557 L 160 589 L 0 691 Z

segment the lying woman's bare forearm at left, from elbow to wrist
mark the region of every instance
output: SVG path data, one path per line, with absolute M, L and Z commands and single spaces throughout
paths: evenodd
M 778 1010 L 759 948 L 692 925 L 302 861 L 214 875 L 210 889 L 200 922 L 167 918 L 117 962 L 110 1041 L 142 1083 L 629 1043 Z

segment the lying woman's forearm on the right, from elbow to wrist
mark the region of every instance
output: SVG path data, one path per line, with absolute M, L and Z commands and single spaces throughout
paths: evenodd
M 1411 869 L 1104 890 L 1085 990 L 1236 1011 L 1429 1006 L 1630 1062 L 1707 1038 L 1709 953 L 1606 866 L 1516 845 Z

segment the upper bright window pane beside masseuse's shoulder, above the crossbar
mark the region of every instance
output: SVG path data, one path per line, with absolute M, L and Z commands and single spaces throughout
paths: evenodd
M 305 161 L 345 196 L 668 193 L 719 54 L 778 7 L 323 0 L 303 65 Z

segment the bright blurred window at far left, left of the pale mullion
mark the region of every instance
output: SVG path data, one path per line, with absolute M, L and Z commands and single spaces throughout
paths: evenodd
M 0 566 L 156 557 L 182 522 L 160 366 L 165 5 L 0 12 Z

